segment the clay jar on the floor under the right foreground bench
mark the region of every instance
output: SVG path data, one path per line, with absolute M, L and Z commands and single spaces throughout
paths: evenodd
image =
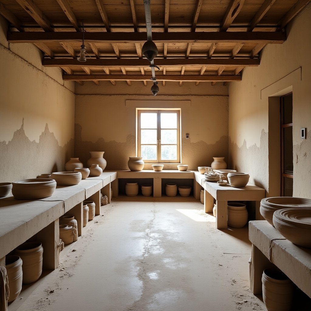
M 293 284 L 279 269 L 265 269 L 262 273 L 262 298 L 267 311 L 290 311 Z

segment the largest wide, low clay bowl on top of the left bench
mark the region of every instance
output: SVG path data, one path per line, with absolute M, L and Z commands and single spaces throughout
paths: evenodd
M 36 200 L 50 197 L 56 181 L 48 178 L 22 179 L 12 182 L 12 194 L 17 200 Z

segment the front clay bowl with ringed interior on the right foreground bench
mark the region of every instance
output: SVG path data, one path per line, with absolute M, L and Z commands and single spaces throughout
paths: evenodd
M 290 242 L 311 248 L 311 207 L 280 209 L 273 214 L 276 229 Z

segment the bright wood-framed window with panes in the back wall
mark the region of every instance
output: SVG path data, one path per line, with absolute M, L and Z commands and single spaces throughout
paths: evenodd
M 138 110 L 137 156 L 146 163 L 180 163 L 180 110 Z

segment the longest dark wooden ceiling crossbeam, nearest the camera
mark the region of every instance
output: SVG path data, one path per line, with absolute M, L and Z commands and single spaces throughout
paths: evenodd
M 27 31 L 9 32 L 7 40 L 10 43 L 45 43 L 45 42 L 80 42 L 78 32 Z M 271 31 L 227 31 L 227 32 L 155 32 L 152 41 L 155 43 L 265 43 L 282 44 L 286 40 L 285 32 Z M 85 41 L 88 43 L 145 43 L 146 33 L 143 32 L 87 32 Z

